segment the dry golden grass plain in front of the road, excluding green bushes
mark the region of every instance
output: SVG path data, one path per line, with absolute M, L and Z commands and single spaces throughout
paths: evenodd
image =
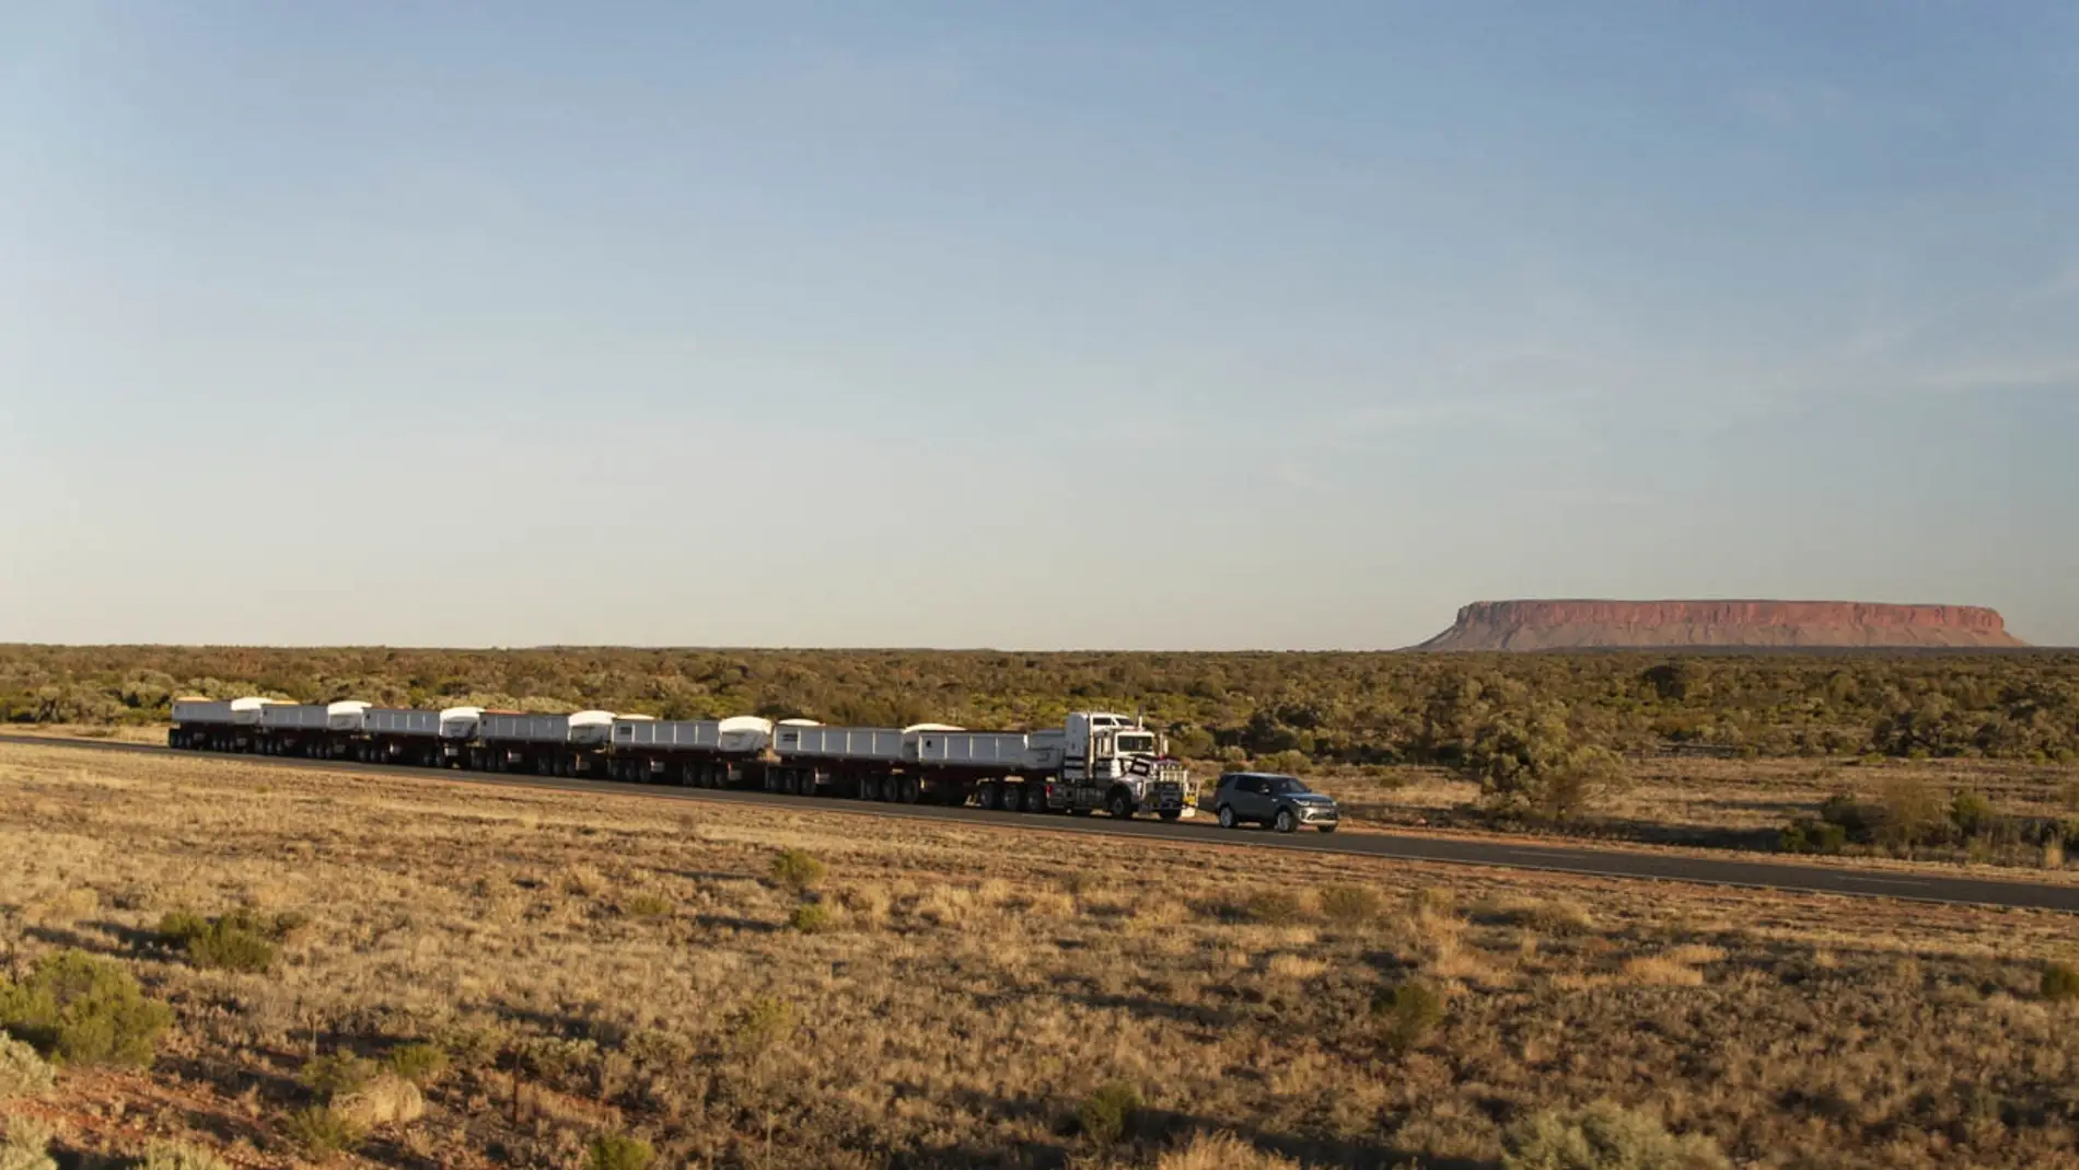
M 786 929 L 782 850 L 836 929 Z M 1320 896 L 1351 887 L 1376 912 Z M 308 914 L 272 975 L 148 939 L 241 904 Z M 73 1153 L 287 1168 L 314 1054 L 435 1041 L 424 1116 L 343 1164 L 630 1131 L 732 1170 L 1493 1168 L 1509 1122 L 1609 1099 L 1753 1166 L 2079 1166 L 2054 914 L 0 746 L 0 925 L 179 1016 L 150 1074 L 6 1106 Z M 1443 1012 L 1397 1052 L 1366 1020 L 1410 979 Z M 1100 1147 L 1073 1118 L 1112 1081 L 1141 1108 Z

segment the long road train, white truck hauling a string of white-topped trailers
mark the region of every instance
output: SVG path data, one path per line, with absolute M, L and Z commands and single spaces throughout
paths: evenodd
M 595 777 L 692 788 L 763 788 L 900 804 L 981 804 L 1023 813 L 1164 821 L 1198 808 L 1189 769 L 1131 715 L 1077 711 L 1042 732 L 946 723 L 830 727 L 813 719 L 651 719 L 611 711 L 534 715 L 416 711 L 268 698 L 181 698 L 166 742 L 254 752 L 491 773 Z

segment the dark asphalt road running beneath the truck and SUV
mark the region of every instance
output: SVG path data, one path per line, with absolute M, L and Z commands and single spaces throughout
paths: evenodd
M 237 759 L 274 767 L 314 767 L 326 771 L 428 775 L 426 769 L 362 765 L 343 761 L 299 761 L 285 756 L 210 756 L 175 752 L 150 744 L 116 744 L 94 740 L 48 740 L 40 736 L 0 736 L 4 744 L 37 748 L 73 748 L 89 752 L 179 754 L 183 759 Z M 1703 885 L 1744 885 L 1755 889 L 1788 889 L 1798 894 L 1848 894 L 1859 898 L 1906 898 L 1919 902 L 1965 902 L 2029 910 L 2079 912 L 2079 885 L 2046 885 L 2033 881 L 1988 881 L 1977 877 L 1940 877 L 1929 873 L 1877 871 L 1832 865 L 1786 865 L 1773 860 L 1699 858 L 1678 854 L 1601 850 L 1576 846 L 1538 846 L 1507 840 L 1424 837 L 1410 833 L 1272 833 L 1268 829 L 1222 831 L 1208 817 L 1162 823 L 1154 819 L 1112 821 L 1098 817 L 1037 817 L 1029 813 L 990 813 L 983 808 L 942 808 L 936 804 L 867 804 L 817 796 L 775 796 L 769 792 L 730 792 L 705 788 L 657 788 L 644 783 L 613 783 L 597 779 L 518 777 L 491 773 L 432 773 L 441 779 L 491 783 L 505 788 L 549 788 L 568 792 L 615 792 L 659 800 L 692 800 L 715 804 L 763 804 L 848 813 L 854 817 L 896 817 L 911 821 L 963 821 L 1048 833 L 1094 833 L 1110 837 L 1154 837 L 1173 844 L 1252 846 L 1318 854 L 1380 856 L 1401 860 L 1432 860 L 1449 865 L 1484 865 L 1505 869 L 1538 869 L 1582 873 L 1595 877 L 1626 877 L 1640 881 L 1688 881 Z

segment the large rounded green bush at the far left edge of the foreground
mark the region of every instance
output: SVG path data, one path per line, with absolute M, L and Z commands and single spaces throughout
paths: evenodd
M 0 1029 L 60 1064 L 152 1064 L 173 1010 L 148 1000 L 114 960 L 77 950 L 0 981 Z

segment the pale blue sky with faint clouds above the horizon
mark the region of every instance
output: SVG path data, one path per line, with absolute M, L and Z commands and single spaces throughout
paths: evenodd
M 2079 644 L 2079 6 L 0 0 L 0 640 Z

